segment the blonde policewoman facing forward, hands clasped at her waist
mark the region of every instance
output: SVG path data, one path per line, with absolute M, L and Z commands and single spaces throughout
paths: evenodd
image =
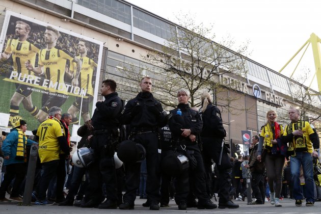
M 198 112 L 191 110 L 189 106 L 190 92 L 180 89 L 177 92 L 179 104 L 177 108 L 171 110 L 169 127 L 172 131 L 172 139 L 176 151 L 189 158 L 191 175 L 194 176 L 194 194 L 198 198 L 197 208 L 213 209 L 217 205 L 210 201 L 206 194 L 205 171 L 202 154 L 197 145 L 197 135 L 202 130 L 202 119 Z M 180 109 L 180 112 L 178 111 Z M 187 208 L 188 195 L 190 193 L 189 171 L 184 170 L 176 177 L 175 202 L 178 209 Z

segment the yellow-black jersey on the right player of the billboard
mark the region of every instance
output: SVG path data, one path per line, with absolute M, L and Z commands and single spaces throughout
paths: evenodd
M 82 69 L 79 74 L 79 84 L 82 89 L 87 89 L 87 94 L 94 96 L 94 90 L 92 86 L 92 77 L 94 69 L 97 68 L 97 63 L 88 57 L 77 57 L 82 61 Z M 76 64 L 74 63 L 74 67 Z

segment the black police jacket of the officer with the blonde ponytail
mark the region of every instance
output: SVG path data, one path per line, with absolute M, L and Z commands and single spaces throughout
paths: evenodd
M 217 106 L 209 103 L 202 113 L 203 130 L 201 137 L 224 138 L 226 131 L 223 127 L 221 112 Z

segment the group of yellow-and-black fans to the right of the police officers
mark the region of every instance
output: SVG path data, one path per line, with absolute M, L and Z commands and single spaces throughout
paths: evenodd
M 320 196 L 318 181 L 319 138 L 316 130 L 308 121 L 300 120 L 296 108 L 288 111 L 288 125 L 278 124 L 277 113 L 270 110 L 267 122 L 261 127 L 260 135 L 253 136 L 249 149 L 250 159 L 245 168 L 251 173 L 251 186 L 255 201 L 264 204 L 269 201 L 277 207 L 284 197 L 295 200 L 296 206 L 313 206 Z M 285 159 L 289 161 L 286 162 Z M 239 161 L 241 160 L 241 161 Z M 234 163 L 232 197 L 245 200 L 244 174 L 242 176 L 242 155 Z

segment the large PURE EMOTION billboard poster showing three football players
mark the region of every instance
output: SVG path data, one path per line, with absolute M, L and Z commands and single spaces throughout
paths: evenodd
M 7 11 L 0 37 L 0 126 L 14 127 L 22 118 L 34 130 L 52 106 L 71 114 L 73 124 L 91 118 L 102 47 L 100 41 Z

